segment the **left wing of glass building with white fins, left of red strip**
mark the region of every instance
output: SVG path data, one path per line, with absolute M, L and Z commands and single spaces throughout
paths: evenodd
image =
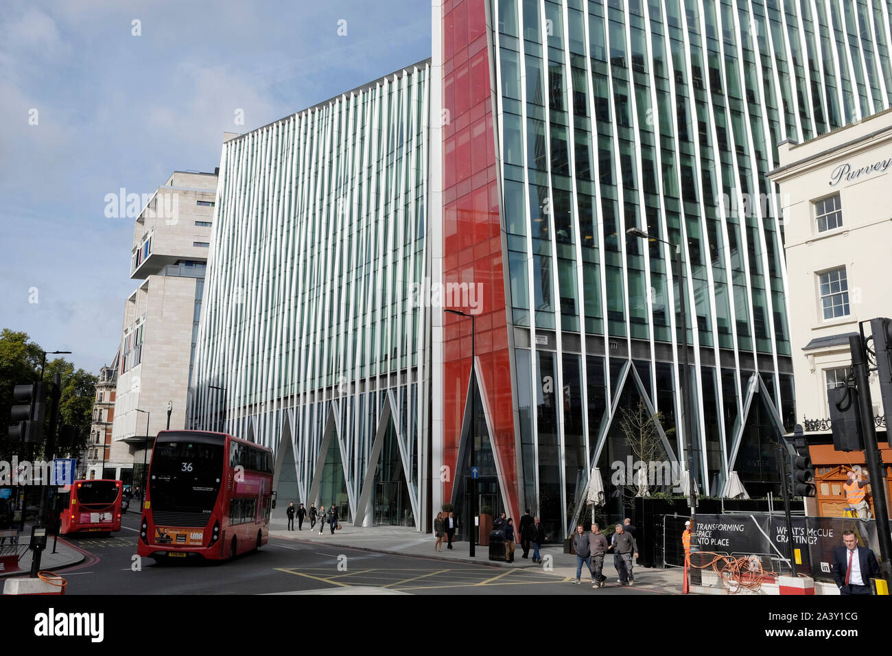
M 277 452 L 279 499 L 414 525 L 430 63 L 227 141 L 193 428 Z

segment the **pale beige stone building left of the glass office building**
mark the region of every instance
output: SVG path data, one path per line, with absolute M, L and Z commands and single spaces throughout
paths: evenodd
M 124 303 L 112 437 L 137 478 L 169 404 L 170 428 L 185 426 L 216 192 L 216 174 L 176 171 L 136 220 L 130 277 L 141 283 Z

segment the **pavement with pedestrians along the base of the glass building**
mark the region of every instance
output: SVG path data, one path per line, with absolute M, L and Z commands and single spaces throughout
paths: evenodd
M 494 569 L 542 569 L 555 577 L 565 578 L 567 581 L 576 578 L 576 556 L 572 553 L 564 553 L 563 544 L 548 545 L 541 547 L 540 555 L 544 561 L 542 564 L 533 563 L 533 552 L 530 552 L 530 558 L 524 559 L 523 550 L 520 544 L 517 544 L 515 551 L 515 561 L 513 563 L 490 561 L 489 547 L 476 547 L 475 558 L 471 558 L 468 554 L 469 544 L 467 542 L 453 543 L 453 548 L 447 549 L 443 544 L 442 552 L 434 551 L 434 543 L 436 539 L 432 534 L 425 535 L 419 533 L 411 527 L 354 527 L 342 524 L 342 529 L 331 534 L 331 530 L 326 525 L 322 534 L 319 534 L 319 525 L 317 523 L 315 530 L 310 530 L 310 520 L 304 519 L 303 530 L 296 528 L 292 531 L 287 530 L 286 519 L 270 519 L 269 535 L 286 540 L 295 540 L 298 542 L 310 544 L 326 544 L 327 546 L 341 546 L 350 549 L 359 549 L 369 552 L 392 553 L 402 556 L 413 556 L 417 558 L 427 558 L 435 561 L 461 562 L 466 564 L 476 564 L 490 566 Z M 294 526 L 297 526 L 297 520 L 294 520 Z M 616 569 L 613 566 L 613 555 L 608 554 L 604 559 L 603 574 L 607 577 L 609 585 L 615 585 L 618 581 Z M 635 577 L 635 583 L 630 589 L 641 590 L 642 592 L 657 594 L 681 594 L 681 569 L 656 569 L 635 567 L 632 570 Z M 582 581 L 583 583 L 591 581 L 589 575 L 583 566 Z

